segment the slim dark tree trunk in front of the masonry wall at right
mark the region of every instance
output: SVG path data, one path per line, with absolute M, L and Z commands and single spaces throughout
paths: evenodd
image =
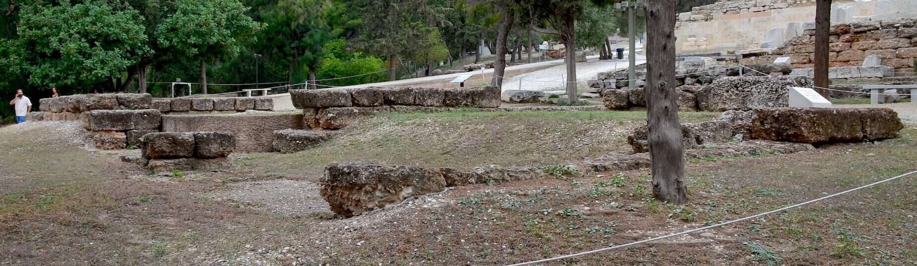
M 831 0 L 818 0 L 815 6 L 815 86 L 828 87 L 828 44 L 831 28 Z M 828 92 L 817 89 L 827 97 Z

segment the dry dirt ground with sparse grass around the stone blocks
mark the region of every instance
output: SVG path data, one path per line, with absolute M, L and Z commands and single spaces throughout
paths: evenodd
M 715 114 L 685 113 L 683 121 Z M 899 139 L 688 161 L 690 203 L 648 171 L 458 187 L 342 218 L 315 183 L 329 161 L 567 164 L 627 150 L 643 112 L 377 116 L 313 150 L 232 156 L 224 172 L 154 174 L 79 125 L 0 128 L 0 265 L 504 265 L 764 212 L 917 169 Z M 573 136 L 572 139 L 569 136 Z M 544 265 L 917 265 L 917 177 L 683 238 Z

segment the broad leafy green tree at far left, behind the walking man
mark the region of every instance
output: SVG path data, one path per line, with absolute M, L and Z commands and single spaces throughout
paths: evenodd
M 18 43 L 30 83 L 123 91 L 133 77 L 122 77 L 149 52 L 143 17 L 130 6 L 88 1 L 20 6 Z

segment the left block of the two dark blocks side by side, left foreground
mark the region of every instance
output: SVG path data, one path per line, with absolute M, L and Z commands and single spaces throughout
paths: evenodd
M 146 159 L 180 159 L 194 157 L 194 133 L 162 132 L 143 136 L 140 150 Z

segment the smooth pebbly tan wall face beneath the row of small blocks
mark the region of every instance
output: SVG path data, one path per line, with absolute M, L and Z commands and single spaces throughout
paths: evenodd
M 271 152 L 274 131 L 302 129 L 303 115 L 276 113 L 265 115 L 162 116 L 163 132 L 219 131 L 236 138 L 238 152 Z

